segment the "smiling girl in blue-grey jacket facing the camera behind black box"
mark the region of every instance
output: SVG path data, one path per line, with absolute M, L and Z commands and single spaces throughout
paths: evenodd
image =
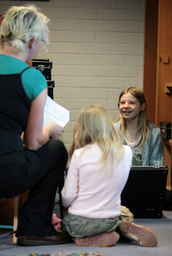
M 164 165 L 164 148 L 160 128 L 146 119 L 144 92 L 136 87 L 124 89 L 119 97 L 120 117 L 114 126 L 125 136 L 133 151 L 134 166 Z M 172 192 L 166 189 L 164 209 L 172 207 Z

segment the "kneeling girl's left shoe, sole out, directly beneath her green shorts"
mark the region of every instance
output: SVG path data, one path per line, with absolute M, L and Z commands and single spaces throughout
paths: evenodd
M 112 231 L 109 233 L 102 233 L 101 235 L 92 236 L 92 237 L 84 237 L 84 238 L 76 238 L 75 242 L 79 246 L 112 246 L 116 244 L 119 240 L 120 236 L 118 233 Z

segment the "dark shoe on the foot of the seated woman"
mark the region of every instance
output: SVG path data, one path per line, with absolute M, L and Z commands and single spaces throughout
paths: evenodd
M 26 246 L 67 244 L 71 237 L 66 232 L 57 232 L 55 236 L 18 236 L 17 244 Z

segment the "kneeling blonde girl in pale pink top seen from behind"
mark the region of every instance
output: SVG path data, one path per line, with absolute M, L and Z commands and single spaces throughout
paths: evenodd
M 79 246 L 112 246 L 119 233 L 144 246 L 157 245 L 152 230 L 120 220 L 120 195 L 132 164 L 132 151 L 122 142 L 105 108 L 92 105 L 81 111 L 62 189 L 68 208 L 62 229 Z

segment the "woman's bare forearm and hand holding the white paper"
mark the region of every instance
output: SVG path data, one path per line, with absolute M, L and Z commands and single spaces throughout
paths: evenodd
M 63 127 L 50 121 L 43 129 L 44 105 L 47 99 L 47 88 L 45 88 L 31 103 L 28 121 L 24 133 L 26 148 L 36 150 L 47 143 L 49 138 L 59 138 L 64 132 Z

